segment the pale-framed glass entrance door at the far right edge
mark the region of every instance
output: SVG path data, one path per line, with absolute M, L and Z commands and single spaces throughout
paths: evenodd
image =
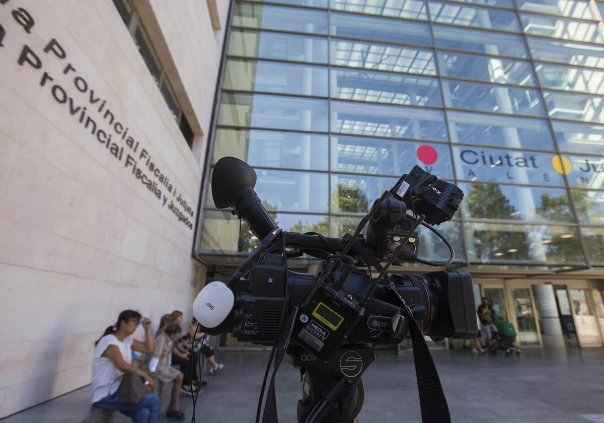
M 586 288 L 569 288 L 571 311 L 573 312 L 574 326 L 577 337 L 582 347 L 602 345 L 600 337 L 600 324 L 589 301 L 589 292 Z

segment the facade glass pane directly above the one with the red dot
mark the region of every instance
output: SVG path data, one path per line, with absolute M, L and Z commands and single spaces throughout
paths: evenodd
M 332 131 L 344 134 L 446 141 L 439 110 L 332 102 Z

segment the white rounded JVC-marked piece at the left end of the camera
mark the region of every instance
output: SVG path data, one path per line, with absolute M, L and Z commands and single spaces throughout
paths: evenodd
M 193 302 L 193 315 L 206 328 L 216 328 L 233 309 L 235 296 L 225 283 L 219 280 L 205 285 Z

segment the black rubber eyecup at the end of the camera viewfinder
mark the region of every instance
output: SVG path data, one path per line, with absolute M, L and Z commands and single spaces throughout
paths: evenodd
M 243 189 L 254 189 L 256 172 L 236 157 L 222 157 L 212 173 L 212 197 L 217 208 L 231 207 Z

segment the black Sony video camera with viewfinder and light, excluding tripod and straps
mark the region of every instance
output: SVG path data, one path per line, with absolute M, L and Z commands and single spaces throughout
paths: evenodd
M 261 242 L 230 279 L 206 280 L 193 305 L 202 331 L 271 345 L 289 321 L 289 340 L 323 362 L 345 344 L 400 343 L 409 336 L 410 318 L 435 340 L 477 335 L 467 272 L 386 273 L 391 264 L 452 262 L 451 244 L 426 224 L 452 218 L 463 199 L 457 186 L 415 166 L 374 202 L 353 236 L 336 239 L 282 231 L 254 192 L 255 182 L 254 169 L 237 158 L 223 157 L 214 167 L 216 207 L 231 207 Z M 366 238 L 360 234 L 365 224 Z M 448 262 L 417 257 L 420 224 L 448 245 Z M 303 254 L 322 260 L 315 274 L 288 270 L 287 260 Z

